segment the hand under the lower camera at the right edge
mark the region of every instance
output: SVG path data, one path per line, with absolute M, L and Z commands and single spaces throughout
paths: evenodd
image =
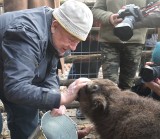
M 146 87 L 150 88 L 153 92 L 160 96 L 160 79 L 144 83 Z

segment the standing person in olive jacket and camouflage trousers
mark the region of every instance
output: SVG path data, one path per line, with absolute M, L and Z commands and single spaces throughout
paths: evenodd
M 133 86 L 145 43 L 147 29 L 134 30 L 128 41 L 122 41 L 114 34 L 116 25 L 122 22 L 119 10 L 125 5 L 146 6 L 155 0 L 96 0 L 92 13 L 101 23 L 99 42 L 101 48 L 103 78 L 117 83 L 122 90 Z

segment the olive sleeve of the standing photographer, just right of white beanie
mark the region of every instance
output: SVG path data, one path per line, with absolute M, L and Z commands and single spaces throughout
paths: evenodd
M 93 9 L 92 9 L 94 19 L 100 21 L 102 24 L 108 24 L 109 17 L 113 14 L 110 11 L 107 11 L 106 0 L 96 0 Z

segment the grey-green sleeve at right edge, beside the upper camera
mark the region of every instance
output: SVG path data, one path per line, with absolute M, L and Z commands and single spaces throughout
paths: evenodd
M 134 28 L 159 28 L 160 27 L 160 12 L 152 13 L 144 17 L 140 22 L 136 22 Z

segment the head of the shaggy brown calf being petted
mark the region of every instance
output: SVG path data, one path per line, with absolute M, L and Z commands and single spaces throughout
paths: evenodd
M 95 114 L 107 112 L 112 95 L 120 91 L 115 83 L 107 79 L 90 81 L 79 91 L 79 102 L 82 112 L 92 117 Z

